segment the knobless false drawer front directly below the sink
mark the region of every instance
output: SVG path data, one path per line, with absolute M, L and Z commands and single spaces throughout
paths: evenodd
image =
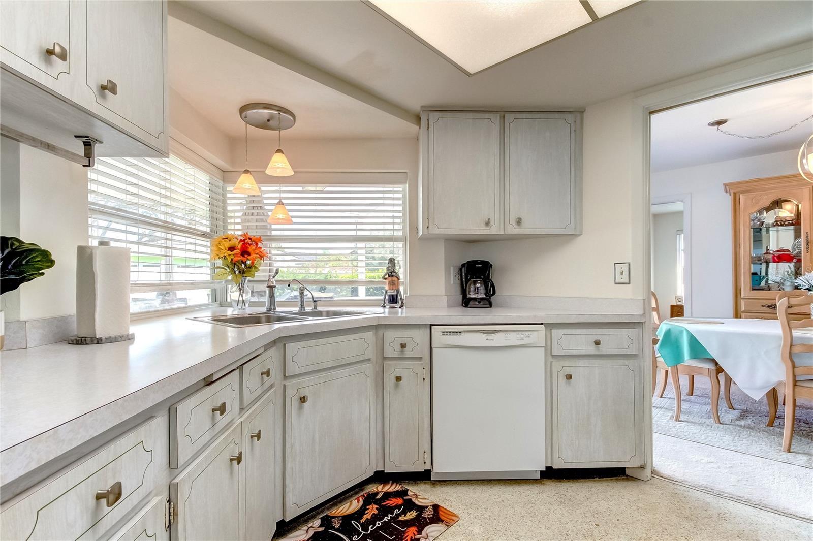
M 285 375 L 372 358 L 372 332 L 330 336 L 285 344 Z

